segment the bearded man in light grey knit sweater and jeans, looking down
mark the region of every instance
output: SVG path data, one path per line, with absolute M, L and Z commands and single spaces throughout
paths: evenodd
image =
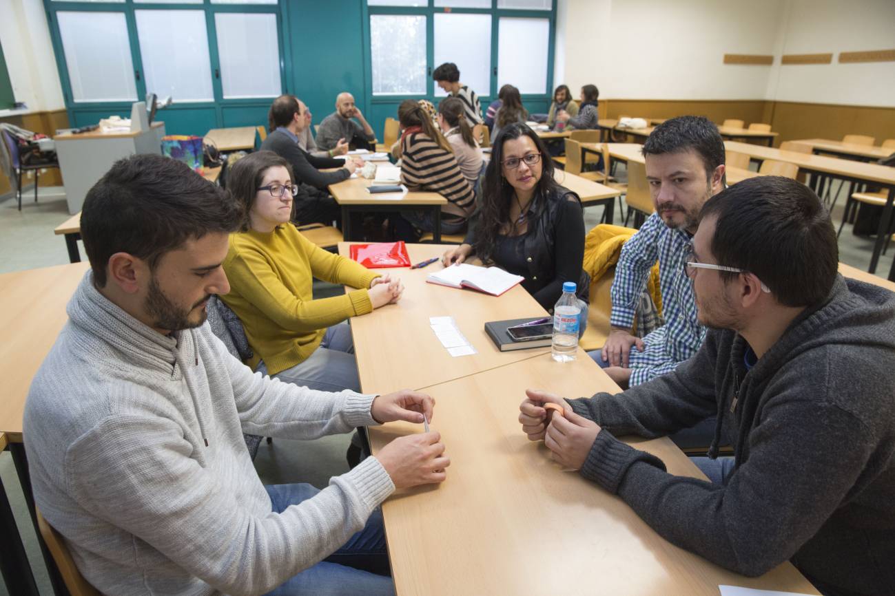
M 106 594 L 390 594 L 377 508 L 444 479 L 439 434 L 400 437 L 318 491 L 262 485 L 243 432 L 422 423 L 432 399 L 308 390 L 230 356 L 205 305 L 229 290 L 240 219 L 225 191 L 160 155 L 121 160 L 90 189 L 91 271 L 25 407 L 36 503 Z

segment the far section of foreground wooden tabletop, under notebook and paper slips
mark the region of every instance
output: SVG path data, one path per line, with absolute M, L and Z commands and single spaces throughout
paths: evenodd
M 339 242 L 339 254 L 348 256 L 349 245 Z M 451 247 L 408 244 L 407 252 L 411 262 L 420 263 L 432 256 L 443 255 L 447 248 Z M 550 351 L 548 347 L 501 352 L 485 332 L 484 325 L 490 321 L 548 316 L 522 286 L 494 297 L 427 283 L 426 277 L 440 269 L 440 263 L 433 263 L 422 269 L 377 270 L 400 278 L 405 290 L 396 305 L 351 319 L 357 368 L 364 391 L 388 393 L 399 389 L 422 389 Z M 429 317 L 448 315 L 454 317 L 460 332 L 477 354 L 455 358 L 442 347 L 431 330 Z

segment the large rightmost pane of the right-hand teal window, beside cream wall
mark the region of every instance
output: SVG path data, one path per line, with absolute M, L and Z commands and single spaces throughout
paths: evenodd
M 498 29 L 498 88 L 509 83 L 521 93 L 546 93 L 550 20 L 505 17 Z

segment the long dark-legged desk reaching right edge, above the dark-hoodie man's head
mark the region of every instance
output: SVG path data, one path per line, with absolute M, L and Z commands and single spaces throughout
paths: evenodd
M 804 172 L 817 174 L 812 176 L 812 187 L 818 196 L 823 194 L 823 185 L 826 182 L 825 179 L 828 178 L 857 182 L 859 184 L 874 184 L 888 189 L 889 196 L 886 199 L 886 205 L 882 208 L 882 217 L 880 218 L 880 225 L 874 241 L 874 253 L 870 258 L 870 266 L 867 269 L 869 273 L 876 273 L 876 265 L 880 260 L 882 245 L 885 243 L 886 236 L 889 235 L 888 223 L 891 221 L 892 202 L 895 201 L 895 168 L 888 165 L 865 164 L 826 155 L 781 151 L 780 149 L 759 147 L 737 141 L 725 141 L 724 147 L 729 151 L 745 153 L 754 162 L 760 163 L 765 159 L 776 159 L 781 162 L 796 164 L 799 170 Z M 895 281 L 895 261 L 892 262 L 889 279 Z

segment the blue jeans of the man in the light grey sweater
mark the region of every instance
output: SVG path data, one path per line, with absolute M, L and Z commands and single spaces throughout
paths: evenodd
M 275 513 L 291 505 L 311 499 L 320 492 L 311 484 L 275 484 L 265 486 Z M 267 596 L 337 596 L 369 594 L 386 596 L 395 593 L 388 574 L 388 550 L 382 512 L 373 511 L 367 525 L 345 542 L 341 549 L 317 565 L 294 575 L 268 592 Z

